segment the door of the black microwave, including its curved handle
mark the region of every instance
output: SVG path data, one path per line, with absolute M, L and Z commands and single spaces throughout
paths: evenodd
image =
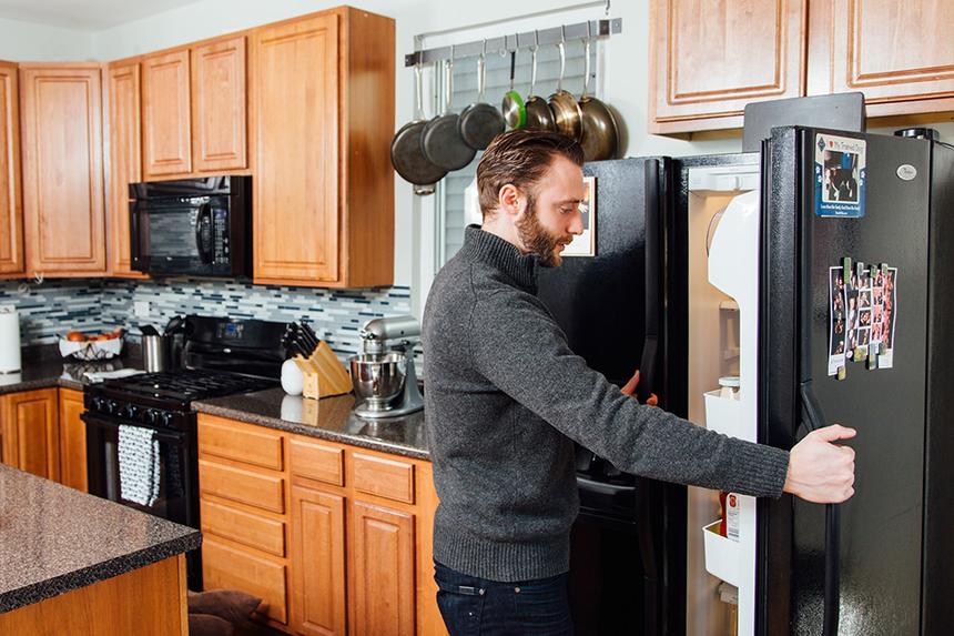
M 214 273 L 216 218 L 227 202 L 215 196 L 130 202 L 132 269 L 153 274 Z

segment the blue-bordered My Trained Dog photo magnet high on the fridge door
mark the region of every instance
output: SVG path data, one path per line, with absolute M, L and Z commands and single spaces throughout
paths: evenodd
M 866 142 L 828 133 L 815 134 L 815 214 L 864 216 Z

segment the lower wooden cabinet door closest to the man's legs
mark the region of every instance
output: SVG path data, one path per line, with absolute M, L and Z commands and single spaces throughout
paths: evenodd
M 414 515 L 355 501 L 352 521 L 351 633 L 413 636 Z

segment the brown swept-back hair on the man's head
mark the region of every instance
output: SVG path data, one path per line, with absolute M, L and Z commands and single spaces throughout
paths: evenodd
M 577 165 L 583 164 L 583 149 L 565 134 L 518 129 L 497 135 L 477 164 L 477 190 L 484 218 L 493 214 L 500 189 L 508 183 L 527 192 L 532 200 L 532 186 L 544 178 L 557 155 Z

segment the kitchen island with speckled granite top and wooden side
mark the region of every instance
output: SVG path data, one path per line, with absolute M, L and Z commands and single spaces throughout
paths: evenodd
M 187 634 L 199 531 L 0 465 L 0 634 Z

